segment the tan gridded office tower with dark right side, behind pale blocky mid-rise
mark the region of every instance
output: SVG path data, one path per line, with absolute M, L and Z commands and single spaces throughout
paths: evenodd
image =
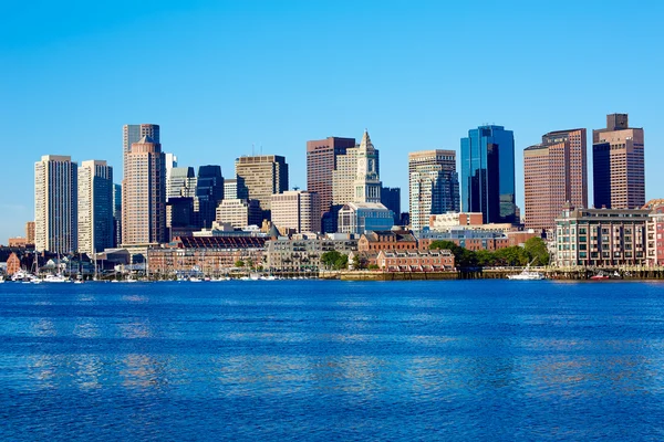
M 269 219 L 272 194 L 288 190 L 288 165 L 278 155 L 260 155 L 236 159 L 236 176 L 245 180 L 249 199 L 258 200 L 263 217 Z

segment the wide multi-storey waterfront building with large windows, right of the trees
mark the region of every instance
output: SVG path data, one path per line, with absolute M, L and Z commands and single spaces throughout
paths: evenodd
M 644 265 L 647 209 L 575 209 L 567 204 L 556 219 L 559 266 Z

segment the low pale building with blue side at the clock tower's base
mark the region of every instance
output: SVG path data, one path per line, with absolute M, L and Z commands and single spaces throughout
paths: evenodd
M 370 230 L 390 230 L 394 212 L 380 202 L 349 202 L 339 211 L 339 233 L 361 235 Z

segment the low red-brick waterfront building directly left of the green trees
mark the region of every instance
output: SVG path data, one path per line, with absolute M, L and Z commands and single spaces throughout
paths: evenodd
M 385 272 L 449 272 L 455 260 L 449 250 L 381 250 L 376 265 Z

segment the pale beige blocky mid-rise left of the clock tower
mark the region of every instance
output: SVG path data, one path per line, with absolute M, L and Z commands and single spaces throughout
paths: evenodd
M 272 224 L 295 233 L 321 231 L 321 197 L 305 190 L 272 196 Z

